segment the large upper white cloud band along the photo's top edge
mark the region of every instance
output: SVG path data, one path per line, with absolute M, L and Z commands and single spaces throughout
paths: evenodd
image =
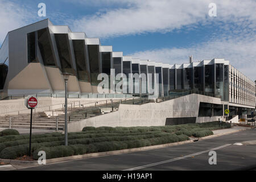
M 84 2 L 84 1 L 80 1 Z M 100 2 L 98 0 L 97 2 Z M 107 1 L 117 3 L 117 1 Z M 143 32 L 168 32 L 184 26 L 207 24 L 211 0 L 126 0 L 129 7 L 109 9 L 73 21 L 75 30 L 85 31 L 88 36 L 108 38 Z M 254 0 L 217 0 L 218 22 L 242 22 L 249 20 L 255 27 L 256 2 Z M 123 3 L 123 1 L 122 1 Z

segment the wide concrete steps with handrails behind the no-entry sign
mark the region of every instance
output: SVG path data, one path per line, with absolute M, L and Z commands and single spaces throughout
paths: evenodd
M 76 122 L 89 117 L 107 114 L 112 111 L 117 111 L 120 101 L 113 101 L 112 104 L 98 104 L 90 106 L 77 106 L 68 108 L 68 122 Z M 63 109 L 55 109 L 49 111 L 40 111 L 33 113 L 32 129 L 49 129 L 58 130 L 64 129 L 65 114 Z M 0 127 L 9 128 L 30 128 L 30 114 L 19 115 L 4 115 L 0 116 Z M 58 126 L 57 126 L 58 125 Z

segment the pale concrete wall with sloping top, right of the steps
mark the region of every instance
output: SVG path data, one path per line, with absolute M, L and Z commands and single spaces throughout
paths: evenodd
M 68 131 L 85 126 L 164 126 L 166 118 L 197 117 L 200 102 L 221 104 L 220 98 L 191 94 L 170 101 L 143 105 L 119 105 L 118 111 L 68 123 Z M 217 121 L 218 117 L 200 117 L 196 122 Z

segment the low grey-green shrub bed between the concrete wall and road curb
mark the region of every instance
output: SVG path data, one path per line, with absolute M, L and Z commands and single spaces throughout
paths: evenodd
M 193 123 L 175 126 L 151 127 L 84 127 L 81 132 L 69 133 L 69 146 L 64 146 L 61 133 L 32 135 L 32 154 L 38 159 L 38 151 L 46 151 L 47 159 L 71 155 L 105 152 L 156 144 L 180 142 L 189 137 L 212 135 L 212 130 L 229 128 L 229 123 Z M 16 159 L 28 155 L 29 135 L 0 137 L 0 158 Z

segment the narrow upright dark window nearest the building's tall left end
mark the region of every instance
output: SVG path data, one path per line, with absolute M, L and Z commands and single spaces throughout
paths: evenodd
M 36 61 L 36 40 L 35 32 L 27 34 L 27 63 L 37 62 Z

